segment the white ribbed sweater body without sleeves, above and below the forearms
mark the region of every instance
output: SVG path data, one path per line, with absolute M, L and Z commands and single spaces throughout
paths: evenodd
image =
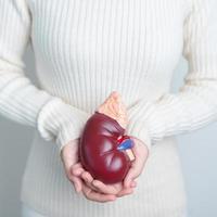
M 117 90 L 127 106 L 168 92 L 182 52 L 184 0 L 27 0 L 39 86 L 93 112 Z M 186 195 L 175 138 L 152 148 L 136 193 L 99 204 L 77 195 L 53 142 L 35 133 L 22 201 L 52 217 L 182 217 Z

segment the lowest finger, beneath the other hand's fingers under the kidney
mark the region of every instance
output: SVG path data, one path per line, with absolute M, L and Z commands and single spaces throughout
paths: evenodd
M 98 193 L 98 192 L 93 191 L 92 189 L 88 188 L 87 186 L 84 186 L 82 192 L 84 192 L 86 199 L 91 200 L 91 201 L 101 202 L 101 203 L 114 201 L 116 199 L 115 195 Z

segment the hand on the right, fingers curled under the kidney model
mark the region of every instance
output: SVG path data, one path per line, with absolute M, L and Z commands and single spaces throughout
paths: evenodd
M 86 184 L 89 187 L 89 190 L 98 191 L 104 194 L 115 194 L 116 196 L 124 196 L 133 192 L 133 188 L 137 186 L 136 178 L 140 176 L 143 170 L 144 164 L 149 156 L 148 146 L 136 137 L 131 137 L 135 142 L 133 148 L 131 149 L 135 154 L 135 161 L 131 164 L 131 167 L 126 175 L 125 179 L 122 182 L 114 184 L 105 184 L 100 180 L 93 179 L 93 177 L 81 167 L 74 167 L 73 174 L 80 177 Z M 85 191 L 88 189 L 85 187 Z

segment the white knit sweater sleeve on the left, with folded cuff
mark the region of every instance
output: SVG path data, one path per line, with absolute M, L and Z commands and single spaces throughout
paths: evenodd
M 80 136 L 90 114 L 34 86 L 23 54 L 30 41 L 31 16 L 25 0 L 0 0 L 0 114 L 36 127 L 60 150 Z

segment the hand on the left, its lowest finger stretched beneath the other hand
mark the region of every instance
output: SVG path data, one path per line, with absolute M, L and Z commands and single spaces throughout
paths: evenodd
M 114 194 L 103 194 L 92 190 L 90 187 L 82 181 L 82 179 L 73 174 L 74 170 L 84 173 L 86 171 L 80 162 L 78 162 L 78 143 L 79 138 L 69 141 L 61 151 L 61 159 L 65 169 L 67 179 L 73 183 L 76 192 L 81 192 L 88 200 L 97 202 L 108 202 L 114 201 L 116 196 Z

